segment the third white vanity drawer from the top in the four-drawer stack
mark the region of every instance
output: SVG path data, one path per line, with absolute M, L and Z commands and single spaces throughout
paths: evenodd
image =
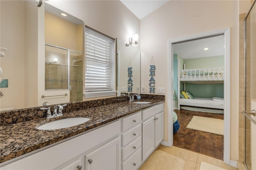
M 131 154 L 133 154 L 136 150 L 138 150 L 141 147 L 141 144 L 142 144 L 142 137 L 139 136 L 130 144 L 125 146 L 122 149 L 122 161 L 126 160 Z

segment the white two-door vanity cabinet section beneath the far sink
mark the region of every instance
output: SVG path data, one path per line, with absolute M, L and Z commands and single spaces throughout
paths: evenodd
M 164 104 L 142 111 L 142 161 L 164 139 Z

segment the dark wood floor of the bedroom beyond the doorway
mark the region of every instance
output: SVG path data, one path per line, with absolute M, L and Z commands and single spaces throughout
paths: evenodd
M 224 136 L 186 128 L 193 116 L 224 119 L 223 114 L 174 110 L 179 130 L 173 135 L 173 145 L 223 160 Z

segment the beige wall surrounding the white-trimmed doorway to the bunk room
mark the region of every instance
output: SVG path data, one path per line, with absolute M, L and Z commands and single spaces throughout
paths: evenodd
M 151 57 L 156 65 L 156 88 L 168 95 L 168 40 L 230 28 L 231 30 L 231 143 L 230 158 L 238 160 L 238 1 L 170 1 L 140 23 L 141 86 L 148 89 Z M 148 91 L 146 91 L 148 93 Z M 168 99 L 168 97 L 166 97 Z M 164 140 L 168 138 L 165 102 Z

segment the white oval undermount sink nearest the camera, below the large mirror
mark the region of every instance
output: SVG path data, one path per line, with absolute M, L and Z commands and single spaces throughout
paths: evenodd
M 60 129 L 60 128 L 68 128 L 68 127 L 80 125 L 89 120 L 90 119 L 86 118 L 86 117 L 72 117 L 72 118 L 60 119 L 58 121 L 53 121 L 53 122 L 49 122 L 44 125 L 41 125 L 41 126 L 37 127 L 37 129 L 54 130 L 54 129 Z

